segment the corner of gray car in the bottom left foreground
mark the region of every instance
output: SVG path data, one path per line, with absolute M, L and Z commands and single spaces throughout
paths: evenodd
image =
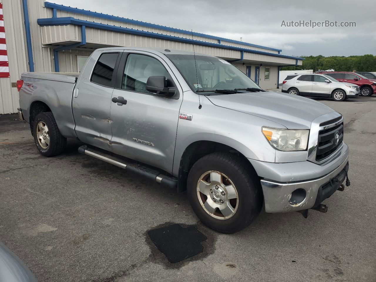
M 1 242 L 0 282 L 37 282 L 30 269 Z

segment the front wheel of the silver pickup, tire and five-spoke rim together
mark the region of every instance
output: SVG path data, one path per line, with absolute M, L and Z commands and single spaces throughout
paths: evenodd
M 191 168 L 188 199 L 203 224 L 223 233 L 244 229 L 262 207 L 261 185 L 255 171 L 232 153 L 212 153 Z

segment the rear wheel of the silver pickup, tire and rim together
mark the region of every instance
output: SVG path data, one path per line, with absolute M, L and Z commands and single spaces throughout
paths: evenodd
M 67 138 L 61 135 L 52 112 L 36 115 L 33 136 L 39 152 L 46 157 L 61 154 L 67 145 Z

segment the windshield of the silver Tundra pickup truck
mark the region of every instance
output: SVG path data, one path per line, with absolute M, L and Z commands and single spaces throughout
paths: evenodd
M 196 55 L 166 55 L 193 91 L 235 88 L 261 89 L 252 79 L 223 59 Z M 196 67 L 197 65 L 197 76 Z

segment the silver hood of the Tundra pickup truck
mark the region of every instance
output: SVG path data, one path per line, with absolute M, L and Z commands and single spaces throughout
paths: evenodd
M 320 115 L 335 112 L 315 100 L 282 92 L 252 92 L 206 96 L 214 105 L 256 115 L 288 129 L 309 129 Z

